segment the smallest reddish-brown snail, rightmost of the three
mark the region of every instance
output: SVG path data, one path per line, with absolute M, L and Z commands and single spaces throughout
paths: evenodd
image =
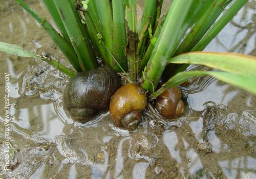
M 173 118 L 184 114 L 185 105 L 181 100 L 180 89 L 178 87 L 166 89 L 157 97 L 155 107 L 164 118 Z

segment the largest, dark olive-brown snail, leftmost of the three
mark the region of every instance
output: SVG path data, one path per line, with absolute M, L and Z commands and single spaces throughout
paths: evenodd
M 109 66 L 78 73 L 65 89 L 65 107 L 74 120 L 89 121 L 109 106 L 119 86 L 119 77 Z

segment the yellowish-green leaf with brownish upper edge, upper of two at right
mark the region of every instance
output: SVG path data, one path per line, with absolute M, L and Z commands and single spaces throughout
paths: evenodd
M 256 74 L 256 57 L 217 52 L 189 52 L 168 60 L 169 63 L 201 64 L 237 74 Z

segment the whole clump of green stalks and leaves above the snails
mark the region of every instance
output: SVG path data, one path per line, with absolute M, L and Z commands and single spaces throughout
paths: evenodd
M 201 75 L 256 94 L 255 57 L 195 52 L 202 51 L 248 0 L 173 0 L 165 13 L 163 0 L 145 0 L 139 28 L 135 0 L 44 0 L 60 34 L 22 0 L 16 1 L 41 24 L 77 72 L 97 68 L 98 57 L 130 81 L 142 81 L 152 98 Z M 6 43 L 0 43 L 0 50 L 47 61 L 35 54 L 24 55 Z M 74 76 L 63 65 L 47 62 Z M 184 72 L 191 63 L 220 71 Z M 163 75 L 168 80 L 155 92 Z

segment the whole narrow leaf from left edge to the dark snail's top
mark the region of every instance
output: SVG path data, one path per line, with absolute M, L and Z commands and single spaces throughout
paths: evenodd
M 0 51 L 9 53 L 11 55 L 16 55 L 19 57 L 30 57 L 30 58 L 41 59 L 43 61 L 48 62 L 49 64 L 54 66 L 56 69 L 65 73 L 66 75 L 70 76 L 71 78 L 73 78 L 75 76 L 75 72 L 68 69 L 66 66 L 60 64 L 59 62 L 38 56 L 37 54 L 30 52 L 29 50 L 23 49 L 19 46 L 16 46 L 15 44 L 0 42 Z

